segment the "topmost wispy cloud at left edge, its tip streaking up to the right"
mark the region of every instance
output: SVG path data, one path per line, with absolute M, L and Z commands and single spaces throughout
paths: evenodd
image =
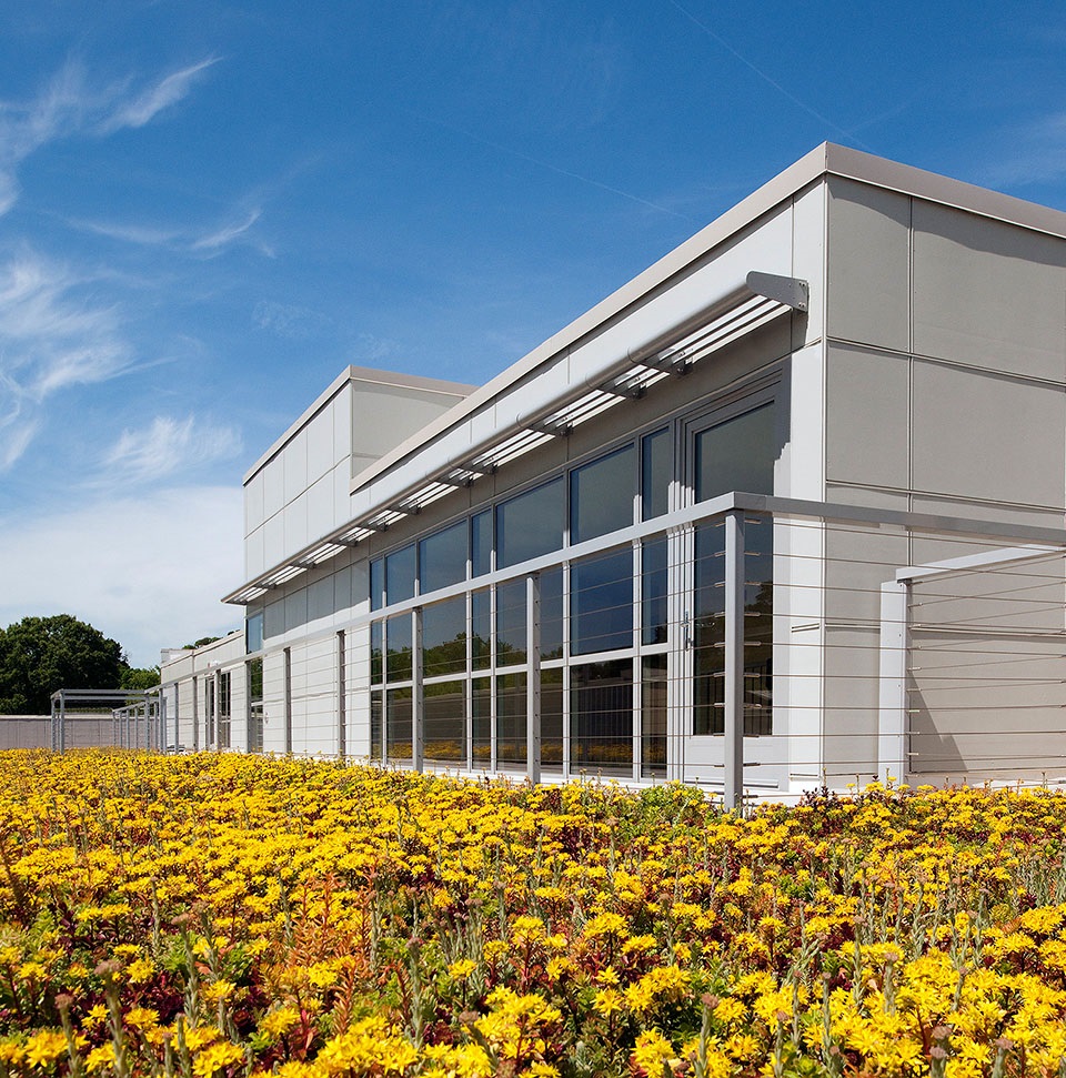
M 37 150 L 60 139 L 144 127 L 187 97 L 219 59 L 209 57 L 139 91 L 128 83 L 93 84 L 82 64 L 71 60 L 30 100 L 0 101 L 0 215 L 18 201 L 19 165 Z

